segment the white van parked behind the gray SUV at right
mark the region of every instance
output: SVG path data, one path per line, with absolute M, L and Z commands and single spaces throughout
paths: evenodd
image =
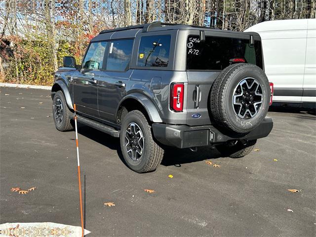
M 266 21 L 245 32 L 262 39 L 273 102 L 316 102 L 316 19 Z

